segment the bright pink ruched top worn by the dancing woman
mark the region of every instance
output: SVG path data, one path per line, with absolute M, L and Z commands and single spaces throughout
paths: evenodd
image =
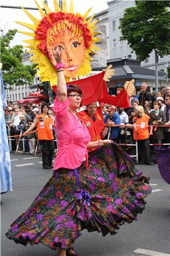
M 54 170 L 58 168 L 75 169 L 88 158 L 87 143 L 91 136 L 85 124 L 81 124 L 76 116 L 68 110 L 69 100 L 54 101 L 56 114 L 56 134 L 58 138 L 58 154 L 54 160 Z

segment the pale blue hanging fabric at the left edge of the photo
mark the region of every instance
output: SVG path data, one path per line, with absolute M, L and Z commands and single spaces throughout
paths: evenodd
M 7 130 L 5 126 L 4 108 L 7 106 L 5 97 L 5 89 L 3 84 L 3 76 L 1 75 L 1 90 L 0 90 L 0 171 L 1 171 L 1 193 L 13 191 L 11 179 L 11 162 L 9 154 L 9 144 L 7 138 Z

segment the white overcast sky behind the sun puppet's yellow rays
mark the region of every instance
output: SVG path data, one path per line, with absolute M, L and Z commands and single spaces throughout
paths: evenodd
M 42 7 L 42 1 L 37 0 L 39 5 Z M 67 0 L 67 9 L 69 9 L 69 0 Z M 93 13 L 99 13 L 105 9 L 108 9 L 108 5 L 106 0 L 73 0 L 74 12 L 79 12 L 82 15 L 93 6 L 90 15 Z M 36 3 L 34 0 L 1 0 L 1 5 L 8 6 L 23 6 L 23 7 L 36 7 Z M 48 0 L 48 7 L 54 11 L 53 0 Z M 39 11 L 28 10 L 34 17 L 40 19 Z M 26 31 L 26 28 L 18 25 L 15 21 L 22 21 L 24 23 L 32 24 L 32 21 L 27 17 L 27 15 L 22 11 L 22 9 L 9 9 L 2 8 L 0 13 L 0 24 L 1 29 L 7 33 L 9 29 L 18 29 L 19 31 Z M 30 30 L 28 30 L 31 32 Z M 11 43 L 11 45 L 26 45 L 22 43 L 22 40 L 30 39 L 30 37 L 26 37 L 26 35 L 22 35 L 21 33 L 17 33 L 15 35 L 15 39 Z

